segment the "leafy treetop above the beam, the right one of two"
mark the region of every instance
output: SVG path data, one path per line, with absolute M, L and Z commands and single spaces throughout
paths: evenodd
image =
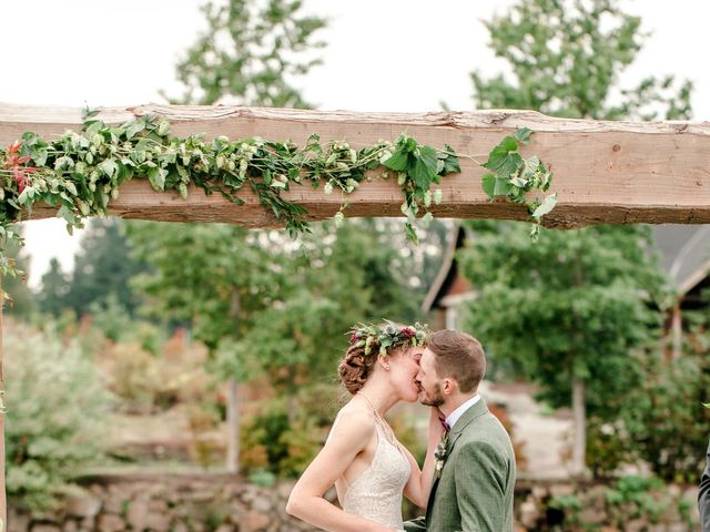
M 650 75 L 629 89 L 620 74 L 647 37 L 617 0 L 520 0 L 484 22 L 509 75 L 475 71 L 478 109 L 530 109 L 596 120 L 689 119 L 692 83 Z

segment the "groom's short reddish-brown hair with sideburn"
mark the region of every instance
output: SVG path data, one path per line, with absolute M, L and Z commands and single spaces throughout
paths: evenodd
M 466 332 L 443 329 L 427 336 L 426 347 L 436 356 L 435 369 L 440 379 L 456 380 L 464 393 L 478 388 L 486 375 L 486 355 L 480 341 Z

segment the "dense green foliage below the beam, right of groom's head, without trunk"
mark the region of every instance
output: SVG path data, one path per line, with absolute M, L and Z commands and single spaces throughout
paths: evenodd
M 582 379 L 588 412 L 615 419 L 611 398 L 641 378 L 630 352 L 656 338 L 661 319 L 665 277 L 648 229 L 547 229 L 532 244 L 519 224 L 473 226 L 459 254 L 478 290 L 466 324 L 494 367 L 513 365 L 555 407 L 569 406 L 572 378 Z

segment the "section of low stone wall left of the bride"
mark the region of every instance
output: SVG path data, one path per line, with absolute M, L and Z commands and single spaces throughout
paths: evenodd
M 263 488 L 221 474 L 103 475 L 52 514 L 9 509 L 10 532 L 300 532 L 313 531 L 284 508 L 293 482 Z

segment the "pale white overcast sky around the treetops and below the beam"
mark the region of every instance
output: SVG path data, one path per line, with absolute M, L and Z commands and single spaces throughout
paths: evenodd
M 203 0 L 2 1 L 0 102 L 37 105 L 135 105 L 178 93 L 174 65 L 204 27 Z M 471 110 L 469 72 L 500 65 L 480 23 L 511 0 L 305 0 L 329 19 L 324 64 L 301 84 L 320 109 L 353 111 Z M 623 3 L 651 31 L 621 80 L 672 73 L 696 83 L 696 120 L 710 120 L 710 70 L 704 60 L 710 2 Z M 59 221 L 26 224 L 30 283 L 49 259 L 71 268 L 78 238 Z

